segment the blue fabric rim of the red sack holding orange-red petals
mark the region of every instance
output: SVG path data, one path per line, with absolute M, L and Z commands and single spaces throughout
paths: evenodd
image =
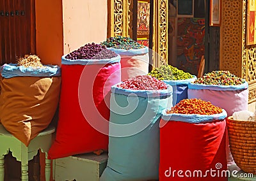
M 223 120 L 227 117 L 227 112 L 222 109 L 222 113 L 214 115 L 198 115 L 198 114 L 180 114 L 180 113 L 166 113 L 166 110 L 162 112 L 162 119 L 167 121 L 181 121 L 188 123 L 202 123 L 213 122 L 215 120 Z

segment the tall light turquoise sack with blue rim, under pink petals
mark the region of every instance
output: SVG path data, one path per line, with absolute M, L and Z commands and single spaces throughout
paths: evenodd
M 111 89 L 108 165 L 101 181 L 158 180 L 159 120 L 172 106 L 172 87 L 159 91 Z

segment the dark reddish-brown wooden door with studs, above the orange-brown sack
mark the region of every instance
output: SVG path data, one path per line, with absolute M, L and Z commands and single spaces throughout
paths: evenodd
M 0 62 L 35 54 L 35 0 L 0 0 Z

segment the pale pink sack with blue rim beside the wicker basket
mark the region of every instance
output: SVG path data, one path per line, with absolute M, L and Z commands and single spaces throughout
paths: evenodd
M 189 83 L 188 98 L 210 101 L 227 112 L 227 117 L 234 112 L 248 110 L 248 83 L 242 85 L 202 85 Z M 227 164 L 235 164 L 229 148 L 228 134 L 226 134 Z

